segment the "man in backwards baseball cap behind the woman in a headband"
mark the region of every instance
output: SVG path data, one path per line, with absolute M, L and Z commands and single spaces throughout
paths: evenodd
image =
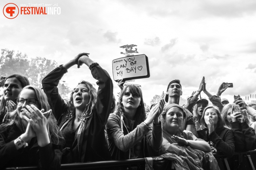
M 180 84 L 180 80 L 172 80 L 167 86 L 167 93 L 165 96 L 165 101 L 168 104 L 179 104 L 180 96 L 182 95 L 182 86 Z M 183 124 L 181 126 L 182 130 L 191 131 L 193 134 L 197 135 L 196 131 L 193 130 L 194 121 L 193 115 L 187 109 L 185 109 L 187 118 L 184 119 Z

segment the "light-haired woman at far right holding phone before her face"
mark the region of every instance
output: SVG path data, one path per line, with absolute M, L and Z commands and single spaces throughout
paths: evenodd
M 235 104 L 227 104 L 223 107 L 221 116 L 225 121 L 227 128 L 231 129 L 235 140 L 235 151 L 246 152 L 256 149 L 255 133 L 253 128 L 249 127 L 248 114 L 246 109 L 241 112 L 234 112 L 232 106 Z

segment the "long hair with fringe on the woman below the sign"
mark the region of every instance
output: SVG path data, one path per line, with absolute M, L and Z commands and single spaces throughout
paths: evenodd
M 143 101 L 143 97 L 142 97 L 142 91 L 139 87 L 137 87 L 135 85 L 128 85 L 128 86 L 124 87 L 124 89 L 121 91 L 121 93 L 119 95 L 119 98 L 118 98 L 120 103 L 118 103 L 116 105 L 116 115 L 119 116 L 119 117 L 123 116 L 124 117 L 123 120 L 124 120 L 125 124 L 127 126 L 130 126 L 128 113 L 124 111 L 123 104 L 121 103 L 122 102 L 122 97 L 124 96 L 125 91 L 127 89 L 129 89 L 129 91 L 132 94 L 136 94 L 141 98 L 140 106 L 137 108 L 135 116 L 134 116 L 134 120 L 135 120 L 134 126 L 137 126 L 137 125 L 141 124 L 143 121 L 146 120 L 146 112 L 145 112 L 145 106 L 144 106 L 144 101 Z

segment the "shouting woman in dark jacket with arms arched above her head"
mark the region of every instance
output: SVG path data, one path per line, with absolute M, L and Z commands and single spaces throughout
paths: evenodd
M 98 92 L 91 83 L 81 81 L 66 104 L 58 92 L 59 81 L 70 67 L 77 64 L 79 68 L 83 63 L 98 80 Z M 104 131 L 113 99 L 109 74 L 92 61 L 88 53 L 81 53 L 49 73 L 42 80 L 42 86 L 66 141 L 63 163 L 110 160 Z

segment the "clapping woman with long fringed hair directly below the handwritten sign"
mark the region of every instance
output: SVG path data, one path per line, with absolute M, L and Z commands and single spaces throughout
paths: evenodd
M 142 91 L 138 86 L 125 86 L 119 101 L 116 112 L 110 114 L 106 125 L 111 158 L 120 160 L 158 156 L 162 145 L 159 116 L 164 100 L 151 109 L 147 118 Z

